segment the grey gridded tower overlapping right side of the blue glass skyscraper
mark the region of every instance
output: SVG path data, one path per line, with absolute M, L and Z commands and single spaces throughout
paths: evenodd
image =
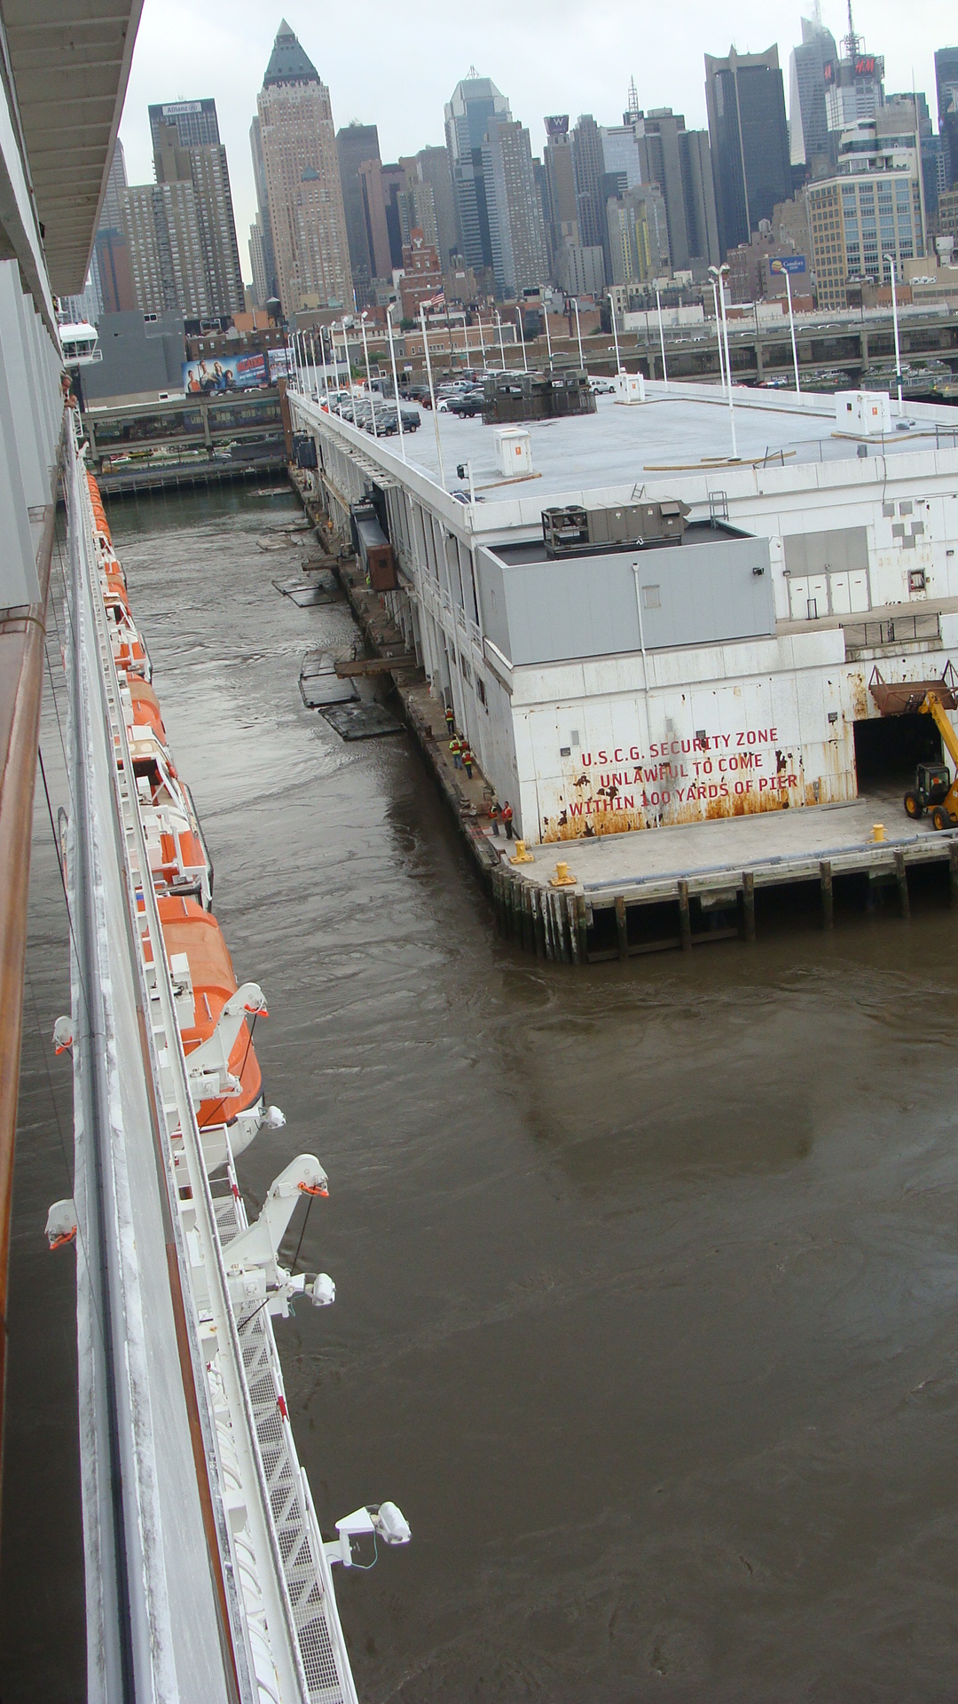
M 528 131 L 518 119 L 491 119 L 482 176 L 496 295 L 518 296 L 545 283 L 549 254 Z

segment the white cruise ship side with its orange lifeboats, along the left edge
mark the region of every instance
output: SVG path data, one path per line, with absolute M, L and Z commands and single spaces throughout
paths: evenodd
M 353 1566 L 368 1547 L 366 1563 L 378 1542 L 407 1542 L 409 1528 L 382 1503 L 338 1522 L 334 1539 L 320 1534 L 273 1322 L 297 1300 L 326 1307 L 336 1297 L 326 1273 L 280 1256 L 293 1213 L 329 1186 L 319 1159 L 280 1137 L 283 1114 L 264 1101 L 252 1029 L 268 1016 L 266 995 L 237 978 L 213 915 L 210 850 L 78 412 L 66 406 L 51 274 L 58 293 L 85 274 L 140 7 L 107 0 L 95 20 L 77 5 L 39 10 L 10 27 L 5 9 L 10 123 L 0 136 L 10 191 L 0 220 L 14 256 L 0 261 L 2 1271 L 60 499 L 72 993 L 55 1045 L 73 1062 L 75 1176 L 46 1229 L 56 1258 L 75 1251 L 77 1261 L 87 1697 L 338 1704 L 356 1690 L 332 1566 Z M 61 119 L 49 104 L 20 109 L 17 65 L 36 70 L 38 55 L 63 73 Z M 32 94 L 26 70 L 24 87 Z M 66 148 L 60 123 L 78 126 L 85 148 Z M 49 176 L 58 143 L 63 160 L 97 162 L 89 184 L 70 191 Z M 249 1222 L 235 1157 L 256 1138 L 276 1143 L 276 1176 Z

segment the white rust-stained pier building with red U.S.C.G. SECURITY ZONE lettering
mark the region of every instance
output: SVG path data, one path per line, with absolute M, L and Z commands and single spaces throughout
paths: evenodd
M 719 390 L 644 395 L 402 445 L 291 397 L 332 525 L 375 503 L 390 613 L 528 843 L 852 801 L 864 750 L 927 734 L 871 688 L 958 646 L 948 409 L 885 402 L 873 433 L 856 397 L 736 390 L 731 458 Z M 678 537 L 641 533 L 675 504 Z

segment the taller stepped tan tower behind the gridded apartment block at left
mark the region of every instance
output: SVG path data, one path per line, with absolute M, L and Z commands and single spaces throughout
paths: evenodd
M 179 109 L 201 109 L 184 111 Z M 242 314 L 245 307 L 242 269 L 237 247 L 237 230 L 234 223 L 234 199 L 230 193 L 230 170 L 227 150 L 220 140 L 184 143 L 182 136 L 191 136 L 203 130 L 208 135 L 216 131 L 216 106 L 213 101 L 181 101 L 174 109 L 174 118 L 157 118 L 150 109 L 150 128 L 155 136 L 153 164 L 157 184 L 189 184 L 196 201 L 196 223 L 199 228 L 201 266 L 206 273 L 208 314 L 227 317 Z M 216 131 L 218 138 L 218 131 Z M 186 302 L 176 307 L 188 312 Z

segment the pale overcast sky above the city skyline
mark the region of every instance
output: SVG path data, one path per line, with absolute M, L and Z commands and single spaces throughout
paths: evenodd
M 845 0 L 847 3 L 847 0 Z M 256 215 L 249 123 L 273 37 L 285 15 L 332 97 L 336 128 L 349 119 L 378 124 L 380 153 L 394 160 L 443 141 L 443 102 L 470 65 L 510 99 L 513 118 L 542 152 L 545 112 L 592 112 L 619 124 L 629 77 L 641 107 L 670 106 L 689 128 L 706 124 L 702 55 L 759 53 L 777 36 L 788 56 L 801 41 L 808 5 L 767 0 L 704 0 L 636 5 L 634 0 L 361 0 L 355 9 L 315 0 L 145 0 L 126 92 L 121 138 L 131 184 L 150 182 L 150 101 L 213 95 L 227 145 L 244 278 L 251 276 L 249 225 Z M 871 53 L 885 55 L 888 92 L 926 90 L 934 121 L 936 48 L 958 37 L 955 7 L 944 0 L 857 0 L 856 29 Z M 839 39 L 847 12 L 822 0 L 823 22 Z M 774 19 L 774 22 L 772 22 Z M 413 22 L 411 22 L 413 20 Z

